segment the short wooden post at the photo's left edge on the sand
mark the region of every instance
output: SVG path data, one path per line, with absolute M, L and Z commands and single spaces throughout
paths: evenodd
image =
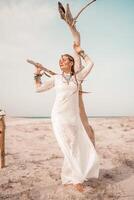
M 5 113 L 0 110 L 0 161 L 1 168 L 5 167 Z

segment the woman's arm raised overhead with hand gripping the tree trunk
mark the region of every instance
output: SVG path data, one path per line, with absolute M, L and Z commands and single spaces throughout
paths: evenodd
M 81 49 L 79 45 L 75 44 L 74 49 L 78 53 L 78 55 L 80 55 L 83 58 L 83 60 L 86 63 L 86 67 L 82 68 L 82 70 L 77 73 L 77 78 L 82 81 L 90 73 L 92 67 L 94 66 L 94 63 L 91 60 L 91 58 L 87 54 L 85 54 L 84 50 Z

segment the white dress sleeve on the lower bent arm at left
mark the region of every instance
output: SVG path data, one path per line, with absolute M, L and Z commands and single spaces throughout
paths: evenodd
M 47 81 L 45 81 L 45 83 L 43 83 L 40 87 L 36 88 L 36 92 L 44 92 L 47 91 L 49 89 L 51 89 L 52 87 L 54 87 L 55 85 L 55 81 L 54 81 L 54 75 L 49 78 Z

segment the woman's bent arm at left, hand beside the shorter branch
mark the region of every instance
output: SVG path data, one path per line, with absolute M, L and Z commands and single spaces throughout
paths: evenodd
M 54 75 L 51 76 L 51 78 L 49 78 L 49 80 L 45 81 L 45 83 L 42 84 L 41 82 L 41 73 L 42 69 L 40 68 L 40 64 L 38 66 L 36 66 L 36 73 L 34 76 L 34 80 L 35 80 L 35 87 L 36 87 L 36 92 L 44 92 L 47 91 L 49 89 L 51 89 L 52 87 L 54 87 L 55 85 L 55 81 L 54 81 Z

